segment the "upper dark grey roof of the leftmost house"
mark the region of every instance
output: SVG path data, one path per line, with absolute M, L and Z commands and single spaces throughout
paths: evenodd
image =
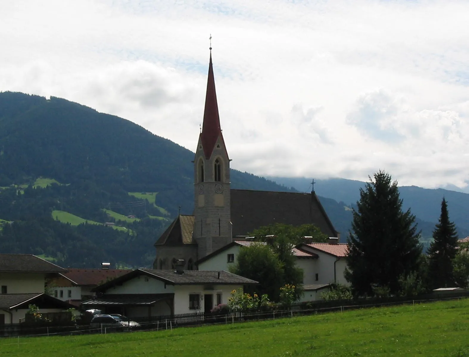
M 64 273 L 61 268 L 32 254 L 0 254 L 0 273 Z

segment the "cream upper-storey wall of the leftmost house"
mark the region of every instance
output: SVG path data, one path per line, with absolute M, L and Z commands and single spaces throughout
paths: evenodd
M 0 286 L 7 286 L 8 294 L 44 292 L 44 273 L 0 273 Z

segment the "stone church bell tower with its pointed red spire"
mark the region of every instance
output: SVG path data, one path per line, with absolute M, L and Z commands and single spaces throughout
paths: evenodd
M 212 50 L 212 48 L 211 48 Z M 230 160 L 220 127 L 212 51 L 204 123 L 194 159 L 194 231 L 197 259 L 231 243 Z

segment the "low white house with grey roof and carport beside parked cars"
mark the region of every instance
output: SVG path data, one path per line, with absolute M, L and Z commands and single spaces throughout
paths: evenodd
M 226 271 L 141 268 L 99 285 L 97 296 L 84 301 L 83 309 L 96 308 L 105 313 L 120 313 L 131 319 L 210 312 L 225 304 L 232 290 L 256 281 Z

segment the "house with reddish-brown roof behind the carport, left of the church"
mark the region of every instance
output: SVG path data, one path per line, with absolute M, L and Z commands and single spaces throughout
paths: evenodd
M 129 271 L 129 269 L 68 268 L 67 272 L 59 273 L 59 276 L 51 280 L 48 286 L 53 292 L 53 297 L 79 306 L 83 300 L 96 295 L 91 289 Z

